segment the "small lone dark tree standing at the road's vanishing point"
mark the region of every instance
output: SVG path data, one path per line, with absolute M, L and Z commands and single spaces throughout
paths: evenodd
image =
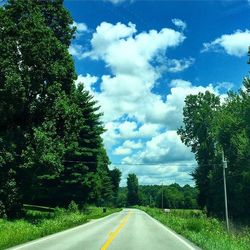
M 127 205 L 139 205 L 139 184 L 138 178 L 135 174 L 129 174 L 127 177 Z

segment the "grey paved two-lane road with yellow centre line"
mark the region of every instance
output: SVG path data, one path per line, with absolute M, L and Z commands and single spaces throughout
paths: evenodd
M 195 250 L 186 239 L 137 209 L 91 221 L 12 250 Z

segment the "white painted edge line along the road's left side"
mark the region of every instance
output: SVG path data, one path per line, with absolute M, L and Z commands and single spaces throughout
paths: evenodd
M 123 211 L 123 210 L 122 210 L 122 211 Z M 86 223 L 84 223 L 84 224 L 82 224 L 82 225 L 79 225 L 79 226 L 76 226 L 76 227 L 73 227 L 73 228 L 70 228 L 70 229 L 65 229 L 65 230 L 63 230 L 63 231 L 61 231 L 61 232 L 57 232 L 57 233 L 54 233 L 54 234 L 51 234 L 51 235 L 44 236 L 44 237 L 42 237 L 42 238 L 38 238 L 38 239 L 32 240 L 32 241 L 30 241 L 30 242 L 23 243 L 23 244 L 21 244 L 20 246 L 18 246 L 18 245 L 17 245 L 17 246 L 13 246 L 13 247 L 8 248 L 8 249 L 6 249 L 6 250 L 19 250 L 19 249 L 22 249 L 22 248 L 24 248 L 24 247 L 28 247 L 28 246 L 31 246 L 31 245 L 40 243 L 40 242 L 42 242 L 42 241 L 49 240 L 49 239 L 54 238 L 54 237 L 56 237 L 56 236 L 58 236 L 58 235 L 60 235 L 60 234 L 65 234 L 65 233 L 68 233 L 68 232 L 71 232 L 71 231 L 74 231 L 74 230 L 77 230 L 77 229 L 80 229 L 80 228 L 89 226 L 89 225 L 91 225 L 91 224 L 94 224 L 94 223 L 96 223 L 96 222 L 98 222 L 98 221 L 100 221 L 100 220 L 104 220 L 104 219 L 106 219 L 106 218 L 108 218 L 108 217 L 111 217 L 112 215 L 117 214 L 117 213 L 120 213 L 120 212 L 122 212 L 122 211 L 119 211 L 119 212 L 115 212 L 115 213 L 109 214 L 109 215 L 104 216 L 104 217 L 102 217 L 102 218 L 99 218 L 99 219 L 95 219 L 95 220 L 93 220 L 93 221 L 86 222 Z

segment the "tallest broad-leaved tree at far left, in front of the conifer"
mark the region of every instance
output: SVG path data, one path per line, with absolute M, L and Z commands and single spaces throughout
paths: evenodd
M 51 135 L 41 134 L 51 127 L 49 109 L 63 93 L 69 94 L 74 88 L 76 74 L 68 53 L 73 21 L 62 1 L 10 0 L 0 8 L 0 18 L 0 176 L 4 183 L 8 173 L 13 173 L 11 179 L 15 180 L 21 203 L 24 196 L 29 196 L 25 192 L 36 173 L 33 160 L 27 157 L 28 146 L 32 140 L 49 140 Z M 45 171 L 51 166 L 58 168 L 53 153 L 47 150 L 44 163 L 49 164 Z M 9 207 L 6 214 L 15 214 L 11 210 Z

